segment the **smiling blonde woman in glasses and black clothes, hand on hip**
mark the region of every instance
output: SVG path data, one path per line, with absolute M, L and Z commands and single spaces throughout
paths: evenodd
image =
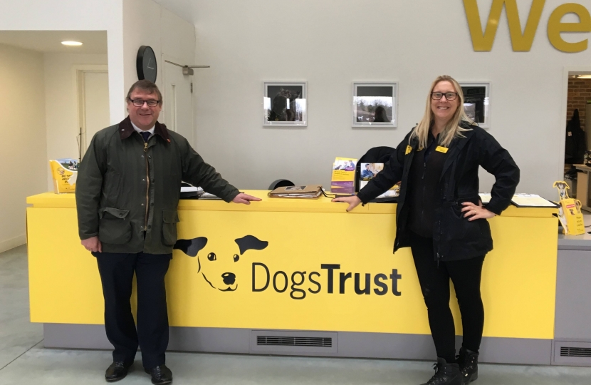
M 427 96 L 421 122 L 406 135 L 384 170 L 357 196 L 340 197 L 347 211 L 402 180 L 394 252 L 410 247 L 437 353 L 427 385 L 461 385 L 478 378 L 484 309 L 480 294 L 484 255 L 493 249 L 487 218 L 501 214 L 519 182 L 508 151 L 464 113 L 458 82 L 439 76 Z M 478 166 L 495 176 L 491 201 L 478 198 Z M 464 340 L 455 356 L 449 279 L 458 298 Z

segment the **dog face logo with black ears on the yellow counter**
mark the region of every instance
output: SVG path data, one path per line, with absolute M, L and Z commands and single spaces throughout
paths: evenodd
M 234 253 L 214 250 L 215 246 L 206 248 L 207 238 L 197 237 L 192 240 L 177 240 L 174 249 L 181 250 L 189 257 L 197 257 L 199 270 L 209 286 L 221 292 L 234 292 L 238 289 L 238 279 L 232 272 L 231 265 L 239 262 L 248 250 L 263 250 L 268 246 L 267 241 L 258 240 L 257 237 L 246 235 L 236 240 L 233 247 Z M 203 252 L 202 252 L 203 250 Z

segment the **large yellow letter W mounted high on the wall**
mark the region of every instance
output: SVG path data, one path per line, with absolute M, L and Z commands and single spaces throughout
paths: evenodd
M 477 0 L 464 0 L 464 9 L 466 9 L 466 18 L 470 27 L 472 36 L 472 46 L 474 51 L 491 51 L 496 36 L 498 22 L 501 20 L 503 4 L 507 14 L 509 32 L 511 33 L 511 45 L 513 51 L 529 51 L 533 43 L 533 36 L 540 24 L 540 17 L 544 9 L 545 0 L 533 0 L 531 4 L 528 21 L 525 24 L 525 31 L 521 30 L 519 21 L 519 11 L 516 0 L 493 0 L 491 13 L 488 14 L 486 29 L 483 32 L 480 22 L 480 13 L 478 12 Z

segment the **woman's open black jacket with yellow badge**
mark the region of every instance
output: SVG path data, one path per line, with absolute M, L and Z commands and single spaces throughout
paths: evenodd
M 519 182 L 519 168 L 507 150 L 482 128 L 467 123 L 462 123 L 462 127 L 471 130 L 463 133 L 464 138 L 454 138 L 449 145 L 437 187 L 439 199 L 435 202 L 433 226 L 433 252 L 437 261 L 466 260 L 493 250 L 488 222 L 485 219 L 469 221 L 461 212 L 461 202 L 478 204 L 478 166 L 496 178 L 491 202 L 486 208 L 497 215 L 511 203 Z M 410 165 L 419 144 L 416 137 L 409 142 L 411 133 L 392 153 L 384 170 L 357 195 L 365 204 L 402 180 L 396 210 L 394 252 L 400 247 L 409 247 L 409 207 L 404 201 L 408 193 Z

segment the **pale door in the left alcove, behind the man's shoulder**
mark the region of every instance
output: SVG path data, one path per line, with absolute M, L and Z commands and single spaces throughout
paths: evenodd
M 81 153 L 84 156 L 95 133 L 110 125 L 109 75 L 105 71 L 80 71 L 78 75 L 83 143 Z

